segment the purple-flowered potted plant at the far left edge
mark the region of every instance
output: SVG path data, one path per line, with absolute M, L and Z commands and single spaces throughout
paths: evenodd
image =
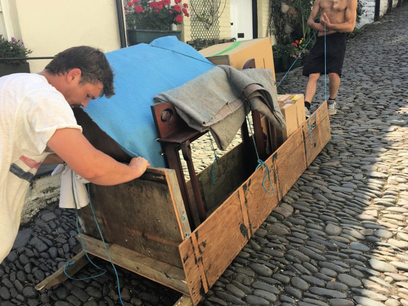
M 12 37 L 7 40 L 0 35 L 0 77 L 12 73 L 30 73 L 30 66 L 26 60 L 2 60 L 2 58 L 24 58 L 32 53 L 22 41 Z

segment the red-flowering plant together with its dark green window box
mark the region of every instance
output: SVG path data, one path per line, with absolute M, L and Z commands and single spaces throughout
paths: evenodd
M 150 43 L 156 38 L 174 35 L 181 39 L 181 31 L 172 31 L 172 24 L 182 24 L 189 17 L 188 5 L 182 0 L 133 0 L 125 5 L 127 38 L 130 45 Z

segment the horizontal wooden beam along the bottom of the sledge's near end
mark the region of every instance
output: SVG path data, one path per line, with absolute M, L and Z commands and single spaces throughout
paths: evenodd
M 102 241 L 87 235 L 82 235 L 82 238 L 89 253 L 109 261 Z M 115 265 L 140 274 L 181 293 L 189 293 L 185 274 L 182 269 L 116 244 L 107 243 L 106 246 L 112 262 Z

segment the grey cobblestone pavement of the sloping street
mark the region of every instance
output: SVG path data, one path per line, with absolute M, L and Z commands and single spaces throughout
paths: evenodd
M 408 305 L 407 33 L 405 5 L 349 41 L 331 141 L 204 305 Z M 299 93 L 304 85 L 296 70 L 279 91 Z M 209 156 L 202 162 L 211 163 Z M 51 206 L 21 228 L 0 265 L 2 306 L 119 304 L 104 261 L 98 261 L 108 269 L 104 276 L 34 290 L 72 256 L 74 220 L 73 212 Z M 125 305 L 172 305 L 180 296 L 118 271 Z M 75 276 L 96 272 L 88 265 Z

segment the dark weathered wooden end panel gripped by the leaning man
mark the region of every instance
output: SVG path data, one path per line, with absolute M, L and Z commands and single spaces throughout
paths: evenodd
M 115 186 L 90 185 L 104 238 L 147 257 L 182 267 L 178 251 L 191 233 L 174 170 L 149 168 L 137 180 Z M 85 234 L 100 239 L 90 206 L 80 211 Z

